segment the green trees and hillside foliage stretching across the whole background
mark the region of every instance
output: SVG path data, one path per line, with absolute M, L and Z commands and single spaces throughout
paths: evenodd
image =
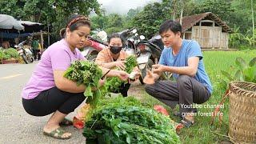
M 106 30 L 111 34 L 135 27 L 138 34 L 150 38 L 158 34 L 160 24 L 166 19 L 212 12 L 235 31 L 230 35 L 231 46 L 255 46 L 254 0 L 162 0 L 130 9 L 126 15 L 106 15 L 106 10 L 100 9 L 97 0 L 0 0 L 0 6 L 1 14 L 41 22 L 45 26 L 49 23 L 51 32 L 57 36 L 58 30 L 66 25 L 67 18 L 75 13 L 89 15 L 94 11 L 98 14 L 91 18 L 92 29 Z

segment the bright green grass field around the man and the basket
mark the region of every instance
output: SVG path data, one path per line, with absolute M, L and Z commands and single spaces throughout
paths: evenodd
M 224 78 L 221 74 L 221 70 L 225 70 L 231 74 L 234 74 L 236 70 L 235 58 L 242 57 L 246 62 L 250 62 L 250 59 L 256 57 L 256 50 L 244 50 L 244 51 L 206 51 L 203 52 L 203 62 L 206 67 L 206 72 L 210 76 L 212 85 L 214 86 L 214 93 L 212 94 L 208 102 L 202 105 L 217 105 L 221 99 L 225 90 L 219 86 L 221 78 Z M 143 92 L 142 102 L 148 105 L 162 104 L 158 102 L 155 98 Z M 163 104 L 162 104 L 163 105 Z M 172 111 L 166 106 L 170 111 L 170 117 L 176 122 L 179 121 L 178 118 L 172 116 Z M 213 108 L 201 108 L 198 109 L 201 113 L 210 113 Z M 228 127 L 229 127 L 229 101 L 226 100 L 224 108 L 221 109 L 223 112 L 223 122 L 221 126 L 218 126 L 218 119 L 214 122 L 213 126 L 210 126 L 209 116 L 196 116 L 195 124 L 190 128 L 184 128 L 181 131 L 180 138 L 182 143 L 220 143 L 229 141 Z

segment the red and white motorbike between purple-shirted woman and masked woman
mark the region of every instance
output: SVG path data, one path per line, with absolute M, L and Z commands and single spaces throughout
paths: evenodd
M 95 61 L 98 53 L 107 48 L 108 44 L 98 38 L 89 37 L 86 46 L 82 50 L 82 55 L 89 61 Z

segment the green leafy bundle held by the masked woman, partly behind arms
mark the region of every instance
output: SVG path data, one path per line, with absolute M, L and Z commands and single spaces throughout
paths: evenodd
M 130 74 L 134 67 L 137 66 L 137 60 L 134 55 L 130 55 L 129 57 L 126 58 L 125 62 L 125 71 Z M 106 89 L 110 92 L 118 91 L 119 86 L 122 85 L 122 80 L 117 77 L 112 77 L 112 78 L 106 78 L 105 86 Z

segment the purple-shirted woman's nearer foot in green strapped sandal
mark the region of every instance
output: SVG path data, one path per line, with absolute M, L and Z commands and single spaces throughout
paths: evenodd
M 46 124 L 46 126 L 44 126 L 43 134 L 60 139 L 68 139 L 72 135 L 71 133 L 68 133 L 65 130 L 63 130 L 62 127 L 50 124 Z

